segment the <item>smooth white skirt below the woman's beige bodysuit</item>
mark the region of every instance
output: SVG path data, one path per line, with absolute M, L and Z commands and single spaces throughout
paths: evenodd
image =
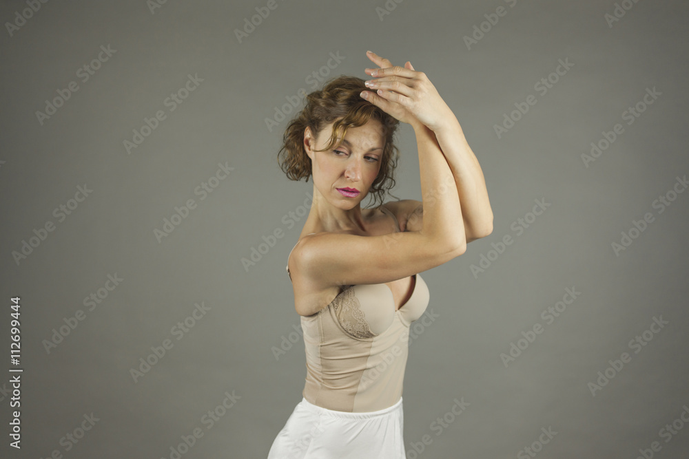
M 326 409 L 306 398 L 296 405 L 267 459 L 404 459 L 402 397 L 376 412 Z

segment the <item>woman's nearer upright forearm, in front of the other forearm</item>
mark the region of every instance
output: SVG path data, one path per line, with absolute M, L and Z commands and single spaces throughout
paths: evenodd
M 453 173 L 428 127 L 414 125 L 419 151 L 421 194 L 424 218 L 421 232 L 440 247 L 457 248 L 466 244 L 462 208 Z

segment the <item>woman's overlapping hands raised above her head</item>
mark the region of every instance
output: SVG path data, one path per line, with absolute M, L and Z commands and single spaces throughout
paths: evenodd
M 455 121 L 455 115 L 447 106 L 433 83 L 424 74 L 416 72 L 411 62 L 404 67 L 393 67 L 385 58 L 367 52 L 367 56 L 379 69 L 365 69 L 364 72 L 378 77 L 372 80 L 371 89 L 378 92 L 364 91 L 362 97 L 377 105 L 387 114 L 407 122 L 415 128 L 422 123 L 432 131 L 437 131 Z

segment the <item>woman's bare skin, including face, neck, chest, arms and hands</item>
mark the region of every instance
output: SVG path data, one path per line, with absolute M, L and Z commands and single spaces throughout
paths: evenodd
M 485 199 L 484 204 L 476 204 L 477 198 L 465 200 L 473 206 L 468 206 L 466 215 L 462 213 L 458 190 L 466 196 L 466 189 L 478 185 L 464 181 L 457 185 L 453 174 L 471 182 L 478 173 L 471 175 L 462 169 L 475 166 L 475 158 L 454 146 L 455 141 L 461 143 L 461 131 L 458 124 L 448 121 L 455 119 L 449 107 L 426 74 L 416 72 L 409 61 L 404 68 L 393 67 L 387 59 L 369 54 L 380 69 L 368 69 L 367 73 L 382 78 L 368 83 L 387 89 L 363 91 L 360 96 L 413 127 L 424 200 L 386 204 L 398 217 L 402 230 L 390 235 L 395 233 L 391 216 L 380 209 L 360 209 L 380 171 L 378 160 L 384 147 L 380 122 L 370 120 L 367 125 L 350 128 L 345 139 L 336 139 L 340 145 L 325 151 L 318 150 L 327 145 L 332 126 L 325 126 L 318 136 L 305 129 L 313 205 L 287 262 L 294 274 L 295 308 L 305 317 L 325 308 L 345 285 L 386 284 L 395 309 L 399 309 L 413 293 L 415 274 L 462 255 L 467 242 L 492 231 L 492 213 Z M 446 151 L 440 147 L 441 140 Z M 459 169 L 453 171 L 453 167 Z M 359 193 L 340 193 L 338 189 L 344 187 Z

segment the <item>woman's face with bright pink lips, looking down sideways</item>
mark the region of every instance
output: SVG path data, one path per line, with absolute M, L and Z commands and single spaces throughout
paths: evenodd
M 333 123 L 326 125 L 315 141 L 311 130 L 304 134 L 304 147 L 311 158 L 313 184 L 325 198 L 340 209 L 352 209 L 369 193 L 378 177 L 383 156 L 384 138 L 378 120 L 369 120 L 360 127 L 347 129 L 345 140 L 338 147 L 325 151 Z M 339 140 L 339 139 L 338 139 Z M 345 189 L 342 193 L 340 189 Z M 358 193 L 347 193 L 356 189 Z

